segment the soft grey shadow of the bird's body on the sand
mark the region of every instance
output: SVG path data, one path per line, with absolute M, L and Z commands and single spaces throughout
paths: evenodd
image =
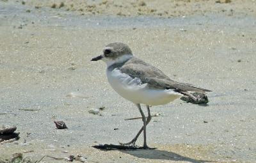
M 164 159 L 164 160 L 172 160 L 172 161 L 188 161 L 192 163 L 204 163 L 204 162 L 215 162 L 211 160 L 201 160 L 201 159 L 192 159 L 186 156 L 181 156 L 180 154 L 171 152 L 171 151 L 163 151 L 163 150 L 119 150 L 123 153 L 144 159 Z

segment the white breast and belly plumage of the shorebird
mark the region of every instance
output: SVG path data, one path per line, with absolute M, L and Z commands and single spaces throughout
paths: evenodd
M 135 104 L 164 105 L 181 97 L 171 89 L 152 89 L 147 84 L 141 84 L 140 79 L 133 79 L 118 69 L 107 70 L 108 82 L 112 88 L 122 97 Z

